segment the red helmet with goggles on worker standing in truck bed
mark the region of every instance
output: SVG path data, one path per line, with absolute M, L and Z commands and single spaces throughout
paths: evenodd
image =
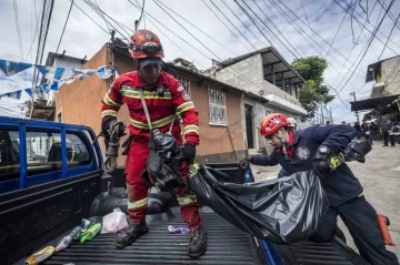
M 133 33 L 129 53 L 133 59 L 163 58 L 161 41 L 150 30 L 138 30 Z

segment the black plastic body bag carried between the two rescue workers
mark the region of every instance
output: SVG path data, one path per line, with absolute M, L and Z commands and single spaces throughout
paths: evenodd
M 232 225 L 277 244 L 310 237 L 329 206 L 312 172 L 243 185 L 230 183 L 229 179 L 217 170 L 193 164 L 189 187 L 199 203 Z

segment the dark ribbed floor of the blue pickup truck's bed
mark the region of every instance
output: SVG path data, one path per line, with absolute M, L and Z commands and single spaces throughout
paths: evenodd
M 132 245 L 116 249 L 116 234 L 99 234 L 84 244 L 72 244 L 44 264 L 261 264 L 253 238 L 214 213 L 202 213 L 208 234 L 206 254 L 187 255 L 190 234 L 169 234 L 168 225 L 183 226 L 178 215 L 172 221 L 149 224 L 149 233 Z

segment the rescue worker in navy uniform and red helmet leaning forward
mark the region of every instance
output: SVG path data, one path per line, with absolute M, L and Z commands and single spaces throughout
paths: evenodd
M 313 170 L 330 202 L 313 239 L 329 242 L 339 215 L 363 258 L 371 264 L 399 264 L 397 256 L 384 247 L 377 212 L 363 196 L 359 180 L 346 163 L 333 171 L 330 167 L 330 157 L 348 146 L 356 130 L 348 125 L 326 125 L 292 131 L 289 126 L 284 115 L 267 115 L 261 121 L 260 132 L 276 149 L 270 155 L 249 157 L 250 163 L 280 164 L 289 174 Z

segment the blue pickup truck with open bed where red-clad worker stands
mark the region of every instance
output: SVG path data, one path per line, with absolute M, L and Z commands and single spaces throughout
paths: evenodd
M 84 125 L 0 116 L 0 264 L 24 264 L 82 218 L 101 220 L 116 207 L 126 210 L 123 169 L 103 173 L 94 140 Z M 244 182 L 239 164 L 210 166 L 232 182 Z M 149 233 L 134 244 L 116 249 L 116 235 L 99 234 L 43 264 L 367 264 L 338 237 L 323 244 L 276 245 L 239 231 L 206 206 L 201 215 L 208 249 L 199 259 L 187 256 L 188 234 L 168 233 L 168 225 L 183 225 L 177 200 L 152 190 Z

